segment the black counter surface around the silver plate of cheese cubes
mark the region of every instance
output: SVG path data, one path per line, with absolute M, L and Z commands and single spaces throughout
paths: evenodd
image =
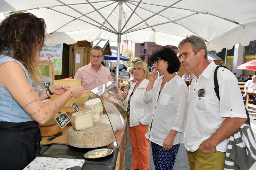
M 119 148 L 111 148 L 111 155 L 97 159 L 86 159 L 84 154 L 96 148 L 75 148 L 70 145 L 52 144 L 40 157 L 84 159 L 81 170 L 114 170 Z

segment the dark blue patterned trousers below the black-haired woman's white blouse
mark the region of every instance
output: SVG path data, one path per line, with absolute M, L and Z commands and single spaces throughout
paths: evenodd
M 151 145 L 155 170 L 172 170 L 180 144 L 173 145 L 169 151 L 163 150 L 163 146 L 154 142 L 151 142 Z

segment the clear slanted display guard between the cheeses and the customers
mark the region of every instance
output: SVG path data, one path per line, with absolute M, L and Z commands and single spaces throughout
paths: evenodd
M 117 86 L 108 81 L 108 83 L 103 84 L 90 92 L 96 95 L 96 98 L 100 98 L 104 107 L 104 115 L 108 116 L 108 121 L 110 122 L 113 132 L 115 133 L 115 141 L 113 144 L 108 146 L 117 147 L 124 127 L 124 118 L 126 116 L 126 102 L 124 99 L 117 100 L 115 95 L 119 94 Z

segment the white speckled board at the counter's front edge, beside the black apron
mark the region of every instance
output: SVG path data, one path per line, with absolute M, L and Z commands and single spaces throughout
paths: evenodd
M 83 167 L 84 160 L 82 159 L 66 159 L 66 158 L 49 158 L 36 157 L 23 170 L 66 170 L 71 167 Z

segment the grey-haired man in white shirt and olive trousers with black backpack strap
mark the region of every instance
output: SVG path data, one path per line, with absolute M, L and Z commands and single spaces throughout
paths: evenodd
M 217 65 L 207 60 L 204 40 L 191 35 L 179 49 L 181 64 L 194 74 L 185 128 L 190 169 L 223 170 L 228 138 L 247 120 L 237 78 L 226 68 L 218 69 L 219 100 L 213 82 Z

